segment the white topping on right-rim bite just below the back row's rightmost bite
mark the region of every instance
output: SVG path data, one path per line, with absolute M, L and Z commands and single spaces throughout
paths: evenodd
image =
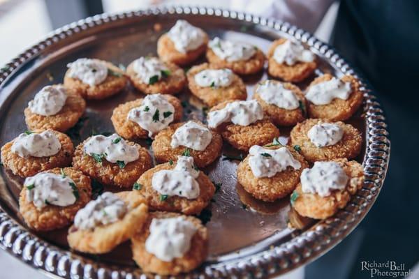
M 351 96 L 351 82 L 341 82 L 336 77 L 309 87 L 305 97 L 314 105 L 328 105 L 333 99 L 348 100 Z

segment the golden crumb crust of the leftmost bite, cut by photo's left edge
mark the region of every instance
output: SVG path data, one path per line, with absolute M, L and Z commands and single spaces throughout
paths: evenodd
M 13 174 L 27 177 L 34 176 L 38 172 L 43 172 L 54 167 L 68 167 L 71 165 L 71 157 L 74 153 L 73 142 L 66 134 L 51 130 L 54 133 L 60 144 L 61 149 L 57 154 L 50 157 L 33 157 L 22 158 L 16 153 L 12 152 L 12 140 L 1 147 L 1 162 L 6 169 L 10 169 Z M 43 130 L 34 130 L 34 133 L 42 133 Z

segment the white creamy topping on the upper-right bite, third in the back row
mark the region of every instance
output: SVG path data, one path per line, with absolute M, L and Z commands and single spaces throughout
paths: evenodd
M 300 43 L 286 40 L 285 43 L 275 48 L 273 58 L 277 63 L 286 63 L 288 66 L 293 66 L 298 61 L 314 61 L 314 54 L 309 50 L 304 50 L 304 47 Z

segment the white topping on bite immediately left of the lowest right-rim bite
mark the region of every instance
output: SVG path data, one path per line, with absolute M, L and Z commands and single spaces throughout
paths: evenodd
M 262 146 L 253 145 L 249 149 L 249 155 L 249 166 L 256 177 L 272 177 L 277 172 L 284 172 L 288 166 L 294 169 L 301 167 L 300 162 L 295 160 L 286 147 L 265 149 Z

